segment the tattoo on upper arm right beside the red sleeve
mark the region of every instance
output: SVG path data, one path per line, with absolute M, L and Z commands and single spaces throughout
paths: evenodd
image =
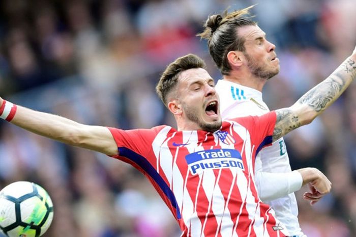
M 276 110 L 277 120 L 273 131 L 273 140 L 276 141 L 284 134 L 302 125 L 298 115 L 293 114 L 291 109 L 285 108 Z

